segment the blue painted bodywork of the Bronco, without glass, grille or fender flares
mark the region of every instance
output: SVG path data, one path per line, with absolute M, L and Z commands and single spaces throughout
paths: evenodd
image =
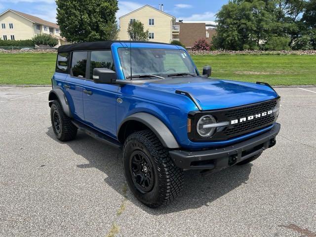
M 120 47 L 185 50 L 183 47 L 169 44 L 115 42 L 111 45 L 111 51 L 118 79 L 124 79 L 118 56 Z M 202 77 L 148 79 L 142 84 L 120 86 L 96 84 L 92 80 L 55 73 L 52 84 L 53 87 L 61 88 L 64 84 L 70 85 L 70 89 L 64 91 L 74 118 L 114 139 L 118 139 L 118 128 L 125 118 L 143 112 L 160 119 L 178 144 L 190 150 L 233 144 L 263 133 L 272 126 L 225 141 L 192 142 L 187 134 L 187 119 L 188 114 L 198 111 L 198 108 L 187 96 L 176 94 L 176 90 L 192 94 L 203 111 L 233 108 L 278 97 L 276 92 L 266 85 Z M 92 91 L 92 95 L 84 94 L 83 90 Z M 123 102 L 118 103 L 118 98 Z

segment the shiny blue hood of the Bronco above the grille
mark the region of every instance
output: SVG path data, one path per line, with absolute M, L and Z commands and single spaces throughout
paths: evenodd
M 155 80 L 146 82 L 143 86 L 171 93 L 176 90 L 189 92 L 203 110 L 226 109 L 267 101 L 278 96 L 266 85 L 201 77 Z

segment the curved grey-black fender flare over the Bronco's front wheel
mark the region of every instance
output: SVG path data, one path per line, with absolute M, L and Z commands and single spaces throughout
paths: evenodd
M 156 134 L 156 136 L 158 137 L 158 139 L 160 140 L 160 142 L 165 148 L 169 148 L 169 149 L 180 148 L 172 132 L 159 118 L 151 114 L 147 114 L 143 112 L 136 113 L 125 118 L 118 127 L 118 133 L 121 126 L 129 120 L 136 120 L 136 121 L 142 122 L 147 127 L 149 127 Z

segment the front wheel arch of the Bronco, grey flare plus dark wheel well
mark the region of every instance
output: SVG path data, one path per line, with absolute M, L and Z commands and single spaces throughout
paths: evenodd
M 160 119 L 147 113 L 136 113 L 125 118 L 118 127 L 118 140 L 124 143 L 132 132 L 145 129 L 152 130 L 165 148 L 180 148 L 169 128 Z

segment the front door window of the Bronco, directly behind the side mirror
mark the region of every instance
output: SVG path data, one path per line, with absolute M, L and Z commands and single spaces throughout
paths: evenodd
M 93 69 L 95 68 L 109 68 L 113 71 L 114 63 L 111 51 L 92 51 L 90 62 L 90 79 L 92 80 Z

